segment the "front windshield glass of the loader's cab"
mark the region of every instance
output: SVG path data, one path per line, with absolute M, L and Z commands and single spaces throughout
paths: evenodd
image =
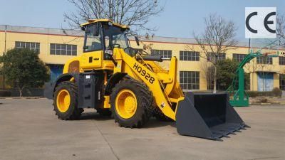
M 105 36 L 105 50 L 112 50 L 114 47 L 128 48 L 126 29 L 117 26 L 103 25 Z

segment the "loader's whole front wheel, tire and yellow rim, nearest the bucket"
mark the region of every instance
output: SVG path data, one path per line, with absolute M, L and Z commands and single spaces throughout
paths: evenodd
M 151 117 L 152 93 L 137 80 L 121 80 L 112 90 L 110 105 L 120 127 L 142 127 Z

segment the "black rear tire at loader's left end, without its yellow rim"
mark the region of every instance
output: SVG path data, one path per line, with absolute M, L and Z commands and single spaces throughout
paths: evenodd
M 56 98 L 58 92 L 61 90 L 68 90 L 69 95 L 71 96 L 71 102 L 66 112 L 61 112 L 58 110 Z M 53 96 L 53 107 L 58 119 L 62 120 L 73 120 L 78 119 L 83 112 L 83 109 L 78 109 L 78 88 L 77 85 L 73 82 L 61 82 L 56 87 L 56 91 L 54 92 Z

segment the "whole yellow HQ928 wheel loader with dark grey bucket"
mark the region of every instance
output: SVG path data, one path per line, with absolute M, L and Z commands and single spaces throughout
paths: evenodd
M 108 19 L 89 20 L 83 54 L 68 60 L 56 82 L 45 85 L 59 119 L 78 119 L 84 108 L 112 114 L 120 127 L 142 127 L 150 117 L 172 119 L 182 135 L 221 140 L 247 127 L 227 94 L 183 93 L 177 58 L 151 56 L 130 46 L 138 36 Z M 169 70 L 157 62 L 170 60 Z

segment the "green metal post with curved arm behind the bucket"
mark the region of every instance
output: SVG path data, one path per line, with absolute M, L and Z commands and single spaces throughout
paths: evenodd
M 232 85 L 229 86 L 227 92 L 229 92 L 230 100 L 229 103 L 233 107 L 248 107 L 249 106 L 249 95 L 244 91 L 244 65 L 246 65 L 250 60 L 257 57 L 278 57 L 279 53 L 275 55 L 264 55 L 261 50 L 253 53 L 253 50 L 239 63 L 239 67 L 236 70 L 237 75 L 232 81 Z

